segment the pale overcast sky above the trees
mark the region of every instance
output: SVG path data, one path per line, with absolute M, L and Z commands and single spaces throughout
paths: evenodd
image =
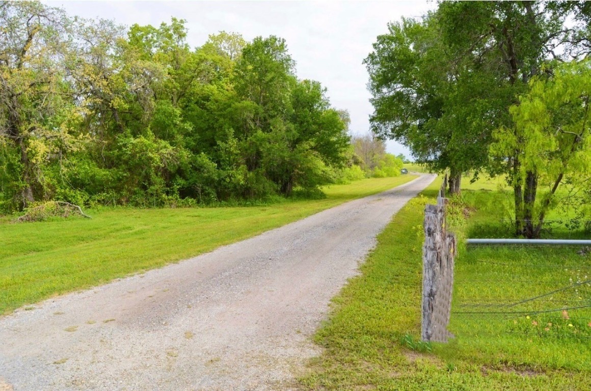
M 351 131 L 369 131 L 373 112 L 366 89 L 363 58 L 387 23 L 418 18 L 432 1 L 46 1 L 73 16 L 113 19 L 119 24 L 160 25 L 171 17 L 186 19 L 191 47 L 209 34 L 238 32 L 247 41 L 262 35 L 284 38 L 300 79 L 317 80 L 330 102 L 351 115 Z M 388 152 L 410 156 L 394 141 Z

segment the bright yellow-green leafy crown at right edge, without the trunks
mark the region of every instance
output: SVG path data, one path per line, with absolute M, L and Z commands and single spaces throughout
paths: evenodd
M 519 105 L 511 107 L 515 128 L 495 132 L 493 154 L 514 157 L 519 151 L 521 177 L 527 171 L 550 180 L 566 172 L 588 174 L 590 95 L 589 61 L 557 67 L 550 79 L 532 79 L 530 91 L 520 97 Z

